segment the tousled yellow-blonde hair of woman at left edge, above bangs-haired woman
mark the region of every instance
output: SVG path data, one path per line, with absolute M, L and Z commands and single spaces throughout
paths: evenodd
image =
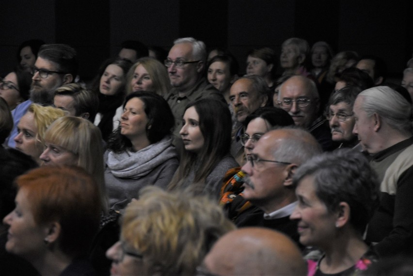
M 33 114 L 34 124 L 37 129 L 36 140 L 42 144 L 45 143 L 45 132 L 51 123 L 67 114 L 59 108 L 41 106 L 37 103 L 32 103 L 27 109 L 27 112 L 31 112 Z

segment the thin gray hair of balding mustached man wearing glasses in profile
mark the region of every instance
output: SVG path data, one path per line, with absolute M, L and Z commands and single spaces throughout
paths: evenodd
M 272 152 L 272 156 L 277 160 L 301 165 L 322 152 L 316 138 L 307 130 L 295 126 L 277 127 L 275 130 L 284 130 L 289 134 L 288 139 L 281 140 Z

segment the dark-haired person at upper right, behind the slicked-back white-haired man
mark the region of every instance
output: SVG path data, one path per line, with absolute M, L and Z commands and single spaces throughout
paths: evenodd
M 362 56 L 356 68 L 365 71 L 375 86 L 382 85 L 387 77 L 387 65 L 381 58 L 373 55 Z

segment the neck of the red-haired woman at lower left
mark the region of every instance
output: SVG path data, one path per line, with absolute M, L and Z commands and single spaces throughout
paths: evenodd
M 42 276 L 60 275 L 72 262 L 72 258 L 64 255 L 60 250 L 47 251 L 42 258 L 32 260 L 31 263 Z

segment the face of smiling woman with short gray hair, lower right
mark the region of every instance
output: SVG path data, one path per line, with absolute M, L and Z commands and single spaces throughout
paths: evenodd
M 290 219 L 297 220 L 297 230 L 300 235 L 300 243 L 325 248 L 334 240 L 337 228 L 336 212 L 329 212 L 326 205 L 316 195 L 314 177 L 304 177 L 297 186 L 296 195 L 298 204 Z

